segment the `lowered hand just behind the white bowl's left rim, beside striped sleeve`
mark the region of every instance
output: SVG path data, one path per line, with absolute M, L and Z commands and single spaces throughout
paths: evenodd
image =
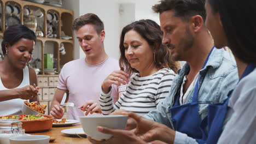
M 102 113 L 100 104 L 94 100 L 85 101 L 84 105 L 80 105 L 77 108 L 81 109 L 82 111 L 86 111 L 85 116 L 94 112 Z

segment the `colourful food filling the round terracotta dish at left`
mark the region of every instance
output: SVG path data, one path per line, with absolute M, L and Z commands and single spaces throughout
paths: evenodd
M 33 121 L 36 119 L 44 119 L 47 117 L 44 117 L 41 113 L 38 113 L 37 115 L 19 115 L 19 116 L 1 116 L 0 119 L 20 119 L 21 121 Z

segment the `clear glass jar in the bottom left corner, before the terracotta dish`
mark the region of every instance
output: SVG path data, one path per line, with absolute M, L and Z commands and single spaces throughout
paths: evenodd
M 22 129 L 22 123 L 19 119 L 2 119 L 0 120 L 0 144 L 9 144 L 9 138 L 25 134 Z

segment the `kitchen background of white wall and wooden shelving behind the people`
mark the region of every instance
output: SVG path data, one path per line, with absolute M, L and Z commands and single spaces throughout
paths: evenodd
M 31 3 L 32 2 L 32 3 Z M 8 26 L 22 23 L 37 35 L 30 66 L 38 74 L 40 104 L 47 105 L 46 115 L 53 100 L 58 74 L 63 64 L 85 57 L 75 32 L 73 20 L 86 13 L 95 13 L 104 22 L 107 54 L 119 59 L 119 35 L 121 29 L 140 19 L 152 19 L 159 23 L 152 5 L 158 0 L 0 0 L 0 43 Z M 39 3 L 39 4 L 38 4 Z M 50 6 L 49 6 L 50 5 Z M 2 47 L 0 52 L 2 53 Z M 0 61 L 1 61 L 0 56 Z M 64 117 L 67 118 L 68 109 Z

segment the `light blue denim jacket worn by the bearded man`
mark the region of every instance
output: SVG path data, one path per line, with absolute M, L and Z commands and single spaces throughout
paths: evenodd
M 183 78 L 189 73 L 189 70 L 188 63 L 178 70 L 178 74 L 172 81 L 168 97 L 158 104 L 156 110 L 150 111 L 144 117 L 165 124 L 174 130 L 171 122 L 172 116 L 168 109 L 173 106 L 174 95 L 176 95 L 177 91 L 180 91 L 179 87 L 182 85 Z M 238 74 L 234 57 L 229 52 L 224 51 L 224 49 L 214 48 L 205 68 L 199 71 L 199 75 L 199 115 L 203 119 L 207 116 L 208 104 L 223 102 L 228 98 L 229 91 L 235 88 Z M 193 94 L 194 90 L 188 95 L 186 103 L 192 102 Z

